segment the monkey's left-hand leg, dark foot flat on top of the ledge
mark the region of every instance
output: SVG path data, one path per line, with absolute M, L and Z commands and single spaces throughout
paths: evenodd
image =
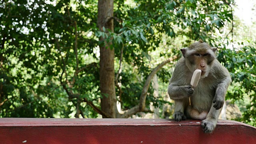
M 175 106 L 174 106 L 174 120 L 177 122 L 180 122 L 181 120 L 186 120 L 187 117 L 184 114 L 184 109 L 186 106 L 187 102 L 186 100 L 175 100 Z

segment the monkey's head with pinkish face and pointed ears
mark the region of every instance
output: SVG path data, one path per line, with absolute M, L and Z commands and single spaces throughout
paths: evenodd
M 182 48 L 181 52 L 185 58 L 186 66 L 191 72 L 196 69 L 202 70 L 201 78 L 207 77 L 213 61 L 216 59 L 217 48 L 200 40 L 191 44 L 188 48 Z

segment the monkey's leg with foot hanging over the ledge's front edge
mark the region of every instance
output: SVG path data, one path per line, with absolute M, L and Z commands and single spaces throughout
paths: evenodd
M 220 112 L 222 108 L 216 110 L 214 107 L 214 103 L 212 103 L 210 112 L 206 116 L 205 120 L 202 120 L 201 126 L 205 133 L 212 133 L 214 128 L 217 125 L 218 118 L 220 116 Z

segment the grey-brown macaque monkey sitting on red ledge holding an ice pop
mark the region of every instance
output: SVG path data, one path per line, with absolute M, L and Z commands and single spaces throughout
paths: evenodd
M 168 86 L 168 94 L 175 101 L 174 119 L 202 120 L 205 133 L 212 133 L 216 127 L 231 82 L 228 70 L 216 59 L 216 50 L 202 40 L 182 48 L 183 57 L 178 60 Z M 191 88 L 196 69 L 202 73 L 197 87 Z

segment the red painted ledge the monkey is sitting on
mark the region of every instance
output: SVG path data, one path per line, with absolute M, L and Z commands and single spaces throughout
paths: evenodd
M 0 118 L 0 144 L 256 144 L 256 128 L 219 120 Z

